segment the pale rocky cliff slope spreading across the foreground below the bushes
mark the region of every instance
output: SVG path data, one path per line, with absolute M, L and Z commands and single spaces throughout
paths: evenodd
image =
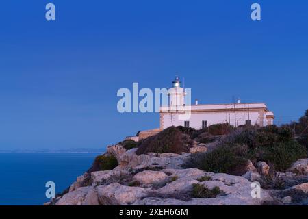
M 140 154 L 137 147 L 108 146 L 102 156 L 114 157 L 115 168 L 92 166 L 45 205 L 307 205 L 308 159 L 274 175 L 263 161 L 248 161 L 240 176 L 187 168 L 192 154 L 207 153 L 215 145 L 198 138 L 185 140 L 181 153 Z M 268 181 L 277 185 L 268 186 Z

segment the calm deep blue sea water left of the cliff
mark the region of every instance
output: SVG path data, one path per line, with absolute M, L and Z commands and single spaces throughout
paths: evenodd
M 0 153 L 0 205 L 42 205 L 47 181 L 56 193 L 82 175 L 98 153 Z

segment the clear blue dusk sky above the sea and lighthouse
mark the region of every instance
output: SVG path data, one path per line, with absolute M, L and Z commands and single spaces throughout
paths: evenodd
M 308 108 L 306 0 L 10 0 L 0 25 L 0 149 L 97 148 L 159 127 L 118 113 L 116 92 L 176 74 L 200 103 L 265 102 L 276 123 Z

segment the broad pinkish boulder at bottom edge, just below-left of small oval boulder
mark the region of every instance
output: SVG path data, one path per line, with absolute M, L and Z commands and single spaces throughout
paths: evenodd
M 147 190 L 144 188 L 120 185 L 119 183 L 98 186 L 96 189 L 99 201 L 103 205 L 129 205 L 147 194 Z

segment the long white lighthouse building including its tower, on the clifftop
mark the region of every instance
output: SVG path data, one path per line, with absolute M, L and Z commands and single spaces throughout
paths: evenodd
M 237 103 L 198 104 L 196 101 L 191 104 L 186 103 L 186 92 L 181 88 L 179 77 L 172 81 L 172 86 L 168 92 L 168 106 L 160 107 L 161 130 L 172 125 L 203 129 L 218 123 L 228 123 L 234 127 L 273 124 L 274 114 L 265 103 L 240 103 L 238 100 Z

